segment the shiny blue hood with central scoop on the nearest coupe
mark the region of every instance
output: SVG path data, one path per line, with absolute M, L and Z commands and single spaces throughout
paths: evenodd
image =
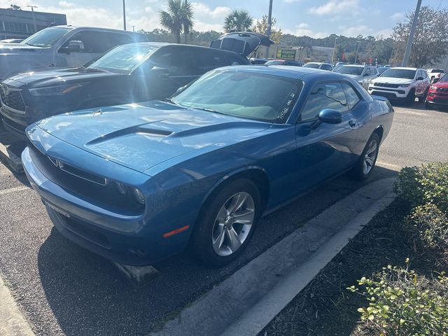
M 36 125 L 66 143 L 138 172 L 190 151 L 225 146 L 271 126 L 158 101 L 66 113 Z M 27 130 L 32 132 L 32 126 Z

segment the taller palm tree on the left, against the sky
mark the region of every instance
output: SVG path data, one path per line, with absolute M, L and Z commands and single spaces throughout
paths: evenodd
M 188 32 L 193 29 L 193 8 L 188 0 L 168 0 L 168 11 L 160 10 L 160 24 L 176 36 L 181 43 L 181 32 L 187 42 Z

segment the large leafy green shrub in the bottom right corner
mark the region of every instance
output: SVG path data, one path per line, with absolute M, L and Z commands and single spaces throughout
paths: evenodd
M 409 260 L 406 260 L 408 263 Z M 448 278 L 419 276 L 408 268 L 384 267 L 374 279 L 363 277 L 359 288 L 347 288 L 367 298 L 361 307 L 363 325 L 368 335 L 423 336 L 448 335 Z

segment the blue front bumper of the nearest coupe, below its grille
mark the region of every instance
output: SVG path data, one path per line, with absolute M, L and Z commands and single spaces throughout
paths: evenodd
M 55 228 L 83 248 L 126 265 L 149 265 L 186 247 L 185 235 L 164 239 L 165 225 L 148 225 L 144 215 L 117 214 L 64 190 L 39 171 L 28 147 L 22 164 Z

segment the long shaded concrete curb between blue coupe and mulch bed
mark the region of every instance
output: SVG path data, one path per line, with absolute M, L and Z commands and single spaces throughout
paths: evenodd
M 151 335 L 257 335 L 350 239 L 391 204 L 393 181 L 374 181 L 332 205 Z

